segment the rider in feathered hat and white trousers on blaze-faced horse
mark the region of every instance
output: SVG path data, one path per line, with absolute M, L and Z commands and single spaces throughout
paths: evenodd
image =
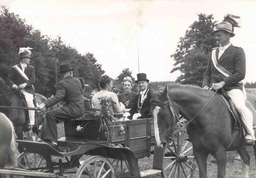
M 226 91 L 240 114 L 247 133 L 246 145 L 252 145 L 255 142 L 253 118 L 252 113 L 245 106 L 241 82 L 246 72 L 244 50 L 230 43 L 230 38 L 235 34 L 229 22 L 220 22 L 213 32 L 220 47 L 212 49 L 202 86 L 206 90 L 211 86 L 213 90 L 223 88 Z

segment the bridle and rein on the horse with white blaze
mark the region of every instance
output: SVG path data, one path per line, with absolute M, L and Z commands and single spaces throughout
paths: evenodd
M 198 116 L 198 114 L 200 114 L 200 112 L 202 112 L 202 110 L 204 110 L 204 108 L 206 108 L 206 106 L 210 103 L 210 101 L 212 100 L 212 98 L 215 96 L 215 94 L 217 93 L 218 90 L 216 90 L 214 92 L 214 94 L 211 96 L 211 98 L 204 104 L 204 106 L 196 113 L 196 115 L 189 120 L 188 122 L 186 122 L 186 124 L 184 124 L 181 128 L 178 128 L 174 131 L 175 129 L 175 124 L 172 125 L 172 133 L 169 134 L 168 136 L 168 140 L 173 140 L 176 137 L 176 134 L 181 132 L 182 130 L 184 130 L 184 128 L 186 128 L 186 126 L 188 126 L 188 124 L 190 124 L 190 122 L 192 122 L 194 120 L 194 118 L 196 118 L 196 116 Z M 152 105 L 155 106 L 161 106 L 161 105 L 165 105 L 168 104 L 170 111 L 172 112 L 172 116 L 174 117 L 174 123 L 176 123 L 175 121 L 179 121 L 179 117 L 178 114 L 175 112 L 174 108 L 172 107 L 172 101 L 170 99 L 169 96 L 169 92 L 167 92 L 167 100 L 166 101 L 161 101 L 158 96 L 156 96 L 156 100 L 155 102 L 151 103 Z

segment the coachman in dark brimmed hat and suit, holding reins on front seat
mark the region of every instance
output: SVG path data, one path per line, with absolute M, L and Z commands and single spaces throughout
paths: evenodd
M 41 138 L 51 146 L 57 145 L 57 124 L 67 119 L 81 117 L 84 112 L 81 82 L 73 77 L 69 62 L 60 64 L 60 72 L 63 80 L 58 83 L 56 95 L 40 104 L 37 108 L 49 108 L 60 101 L 66 102 L 62 107 L 46 113 Z

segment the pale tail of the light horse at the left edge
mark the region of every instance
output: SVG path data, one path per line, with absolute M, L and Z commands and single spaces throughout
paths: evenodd
M 11 140 L 10 150 L 7 158 L 7 165 L 16 167 L 18 165 L 17 157 L 19 155 L 19 152 L 16 144 L 17 136 L 15 134 L 15 129 L 12 124 L 12 121 L 10 121 L 10 119 L 5 114 L 3 113 L 0 113 L 0 114 L 2 114 L 4 118 L 6 118 L 7 122 L 10 124 L 10 127 L 12 128 L 12 140 Z

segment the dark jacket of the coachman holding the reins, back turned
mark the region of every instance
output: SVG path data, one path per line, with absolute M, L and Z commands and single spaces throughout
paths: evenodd
M 57 104 L 60 101 L 66 102 L 61 108 L 65 110 L 70 116 L 81 116 L 84 112 L 84 101 L 82 95 L 82 86 L 80 80 L 67 76 L 58 83 L 56 95 L 49 100 L 46 100 L 44 104 L 47 108 Z

